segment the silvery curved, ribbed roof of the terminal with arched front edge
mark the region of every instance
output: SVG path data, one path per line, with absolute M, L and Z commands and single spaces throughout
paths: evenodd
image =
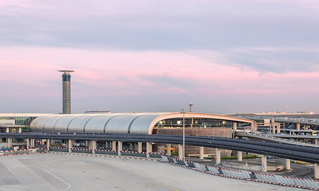
M 181 113 L 120 113 L 120 114 L 51 114 L 39 116 L 30 125 L 30 131 L 47 133 L 132 133 L 152 134 L 162 120 L 182 118 Z M 256 122 L 233 116 L 185 113 L 185 118 L 221 119 L 250 123 Z

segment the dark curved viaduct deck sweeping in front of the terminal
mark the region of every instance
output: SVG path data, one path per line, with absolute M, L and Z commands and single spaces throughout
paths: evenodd
M 33 138 L 52 140 L 85 140 L 85 141 L 122 141 L 143 143 L 182 144 L 182 136 L 165 135 L 130 135 L 130 134 L 57 134 L 57 133 L 0 133 L 3 138 Z M 274 155 L 281 158 L 301 160 L 308 163 L 319 163 L 319 149 L 307 146 L 296 146 L 284 143 L 251 141 L 236 138 L 185 136 L 189 146 L 224 148 L 235 151 Z

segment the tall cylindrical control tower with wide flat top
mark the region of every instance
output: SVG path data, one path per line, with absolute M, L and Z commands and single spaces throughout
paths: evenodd
M 63 114 L 71 113 L 71 92 L 70 92 L 70 72 L 74 70 L 58 70 L 63 72 L 62 85 L 63 85 Z

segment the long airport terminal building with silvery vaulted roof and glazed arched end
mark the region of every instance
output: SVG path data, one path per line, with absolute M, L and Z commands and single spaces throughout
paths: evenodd
M 118 114 L 0 114 L 0 119 L 14 119 L 31 132 L 41 133 L 123 133 L 219 136 L 231 138 L 237 124 L 256 126 L 249 119 L 202 113 L 118 113 Z M 153 151 L 157 150 L 155 145 Z M 177 146 L 174 146 L 177 150 Z M 229 155 L 225 151 L 222 155 Z M 187 146 L 185 153 L 196 155 L 199 147 Z M 205 148 L 204 153 L 214 153 Z

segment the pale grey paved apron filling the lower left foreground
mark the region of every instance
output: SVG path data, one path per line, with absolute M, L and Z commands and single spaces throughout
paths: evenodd
M 0 158 L 0 190 L 301 190 L 148 160 L 35 154 Z

